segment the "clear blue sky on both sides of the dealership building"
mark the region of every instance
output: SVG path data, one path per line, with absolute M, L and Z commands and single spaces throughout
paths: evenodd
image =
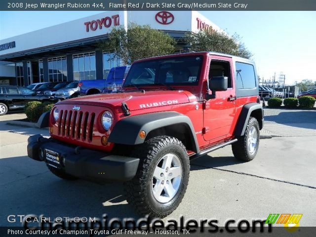
M 101 11 L 0 12 L 0 39 L 79 19 Z M 285 83 L 316 81 L 316 12 L 203 11 L 229 34 L 235 32 L 254 54 L 259 76 L 286 75 Z

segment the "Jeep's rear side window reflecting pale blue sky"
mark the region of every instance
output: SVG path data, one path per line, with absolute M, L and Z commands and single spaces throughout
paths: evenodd
M 256 75 L 253 65 L 236 62 L 236 86 L 238 89 L 256 87 Z

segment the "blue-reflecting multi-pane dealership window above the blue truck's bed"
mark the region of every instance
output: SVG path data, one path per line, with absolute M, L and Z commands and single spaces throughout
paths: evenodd
M 73 55 L 74 80 L 94 80 L 95 52 Z

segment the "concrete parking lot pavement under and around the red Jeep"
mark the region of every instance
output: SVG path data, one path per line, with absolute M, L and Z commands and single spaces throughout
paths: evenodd
M 300 120 L 302 114 L 297 114 L 296 123 L 310 121 L 313 116 Z M 0 121 L 0 226 L 20 226 L 7 222 L 9 214 L 139 217 L 123 197 L 120 183 L 64 181 L 51 174 L 43 162 L 28 158 L 29 135 L 47 131 L 5 125 L 11 118 L 2 116 Z M 262 139 L 251 162 L 237 161 L 230 146 L 193 160 L 187 193 L 165 219 L 179 220 L 183 215 L 186 219 L 217 219 L 223 225 L 228 219 L 251 221 L 266 219 L 269 213 L 303 213 L 300 225 L 315 226 L 315 144 L 316 136 L 300 133 Z

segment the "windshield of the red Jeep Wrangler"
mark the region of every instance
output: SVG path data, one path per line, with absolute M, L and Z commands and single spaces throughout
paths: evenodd
M 134 63 L 123 86 L 196 85 L 202 59 L 202 56 L 178 56 Z

